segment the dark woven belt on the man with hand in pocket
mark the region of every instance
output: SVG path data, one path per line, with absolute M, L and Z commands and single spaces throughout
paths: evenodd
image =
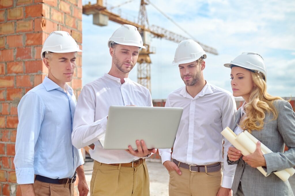
M 176 159 L 173 159 L 173 162 L 178 165 L 179 161 Z M 191 172 L 206 172 L 205 166 L 207 168 L 207 173 L 208 172 L 217 172 L 221 169 L 221 164 L 218 162 L 213 165 L 189 165 L 183 162 L 180 162 L 179 167 L 183 169 L 188 169 Z

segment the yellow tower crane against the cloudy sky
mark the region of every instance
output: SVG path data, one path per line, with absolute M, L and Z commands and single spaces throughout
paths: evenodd
M 133 0 L 126 1 L 119 6 L 123 4 L 127 4 Z M 103 0 L 97 0 L 96 4 L 92 4 L 89 2 L 89 4 L 86 4 L 83 6 L 83 14 L 90 15 L 93 14 L 93 24 L 99 25 L 99 26 L 106 26 L 108 25 L 108 21 L 111 20 L 113 22 L 117 22 L 119 24 L 131 24 L 135 27 L 137 27 L 138 31 L 142 35 L 143 38 L 143 43 L 146 47 L 146 49 L 140 50 L 140 53 L 138 55 L 137 59 L 137 82 L 140 83 L 141 85 L 145 86 L 151 91 L 151 69 L 150 69 L 150 64 L 151 64 L 151 59 L 150 59 L 150 54 L 155 54 L 155 49 L 150 47 L 149 43 L 149 37 L 152 35 L 153 37 L 156 38 L 163 38 L 167 39 L 176 43 L 181 42 L 184 39 L 190 39 L 187 37 L 184 37 L 182 35 L 176 34 L 174 32 L 171 32 L 167 29 L 164 29 L 163 27 L 159 27 L 156 25 L 149 25 L 148 22 L 148 15 L 146 11 L 146 5 L 152 5 L 160 11 L 166 18 L 168 18 L 171 22 L 176 24 L 171 18 L 169 18 L 165 13 L 163 13 L 158 7 L 156 7 L 154 4 L 152 4 L 149 0 L 141 0 L 140 1 L 140 10 L 138 14 L 138 22 L 132 22 L 124 17 L 122 17 L 120 14 L 115 14 L 112 12 L 112 9 L 115 7 L 111 7 L 107 9 L 106 6 L 103 4 Z M 178 24 L 176 24 L 179 28 L 181 28 Z M 182 29 L 186 34 L 188 34 L 190 37 L 192 37 L 188 32 L 186 32 L 184 29 Z M 195 40 L 196 41 L 196 40 Z M 204 49 L 204 51 L 218 55 L 217 50 L 204 45 L 198 41 L 196 41 L 201 45 L 201 47 Z

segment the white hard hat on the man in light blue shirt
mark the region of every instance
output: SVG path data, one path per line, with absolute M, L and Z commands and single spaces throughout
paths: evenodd
M 44 52 L 66 53 L 66 52 L 83 52 L 80 50 L 75 39 L 71 37 L 68 32 L 65 31 L 53 31 L 49 34 L 45 40 L 41 58 L 43 59 Z

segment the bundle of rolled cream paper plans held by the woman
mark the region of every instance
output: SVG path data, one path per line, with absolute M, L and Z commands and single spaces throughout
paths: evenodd
M 246 133 L 247 132 L 247 133 Z M 238 136 L 230 129 L 225 128 L 221 134 L 233 145 L 236 149 L 240 150 L 244 156 L 252 154 L 256 150 L 256 143 L 258 140 L 248 133 L 248 131 L 244 131 L 240 133 Z M 261 151 L 263 154 L 271 153 L 272 151 L 268 149 L 264 144 L 261 143 Z M 257 169 L 264 175 L 266 172 L 262 167 L 257 167 Z M 284 182 L 288 180 L 290 175 L 293 175 L 293 168 L 284 169 L 279 172 L 274 172 L 281 180 Z

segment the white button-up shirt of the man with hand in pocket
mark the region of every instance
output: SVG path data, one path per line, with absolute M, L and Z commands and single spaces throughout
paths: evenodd
M 220 134 L 234 123 L 237 107 L 231 93 L 207 83 L 193 98 L 185 86 L 168 95 L 165 107 L 183 108 L 172 158 L 196 165 L 224 162 L 222 187 L 231 188 L 236 165 L 227 164 L 227 151 L 231 144 Z M 162 163 L 171 160 L 171 149 L 159 149 L 159 153 Z

